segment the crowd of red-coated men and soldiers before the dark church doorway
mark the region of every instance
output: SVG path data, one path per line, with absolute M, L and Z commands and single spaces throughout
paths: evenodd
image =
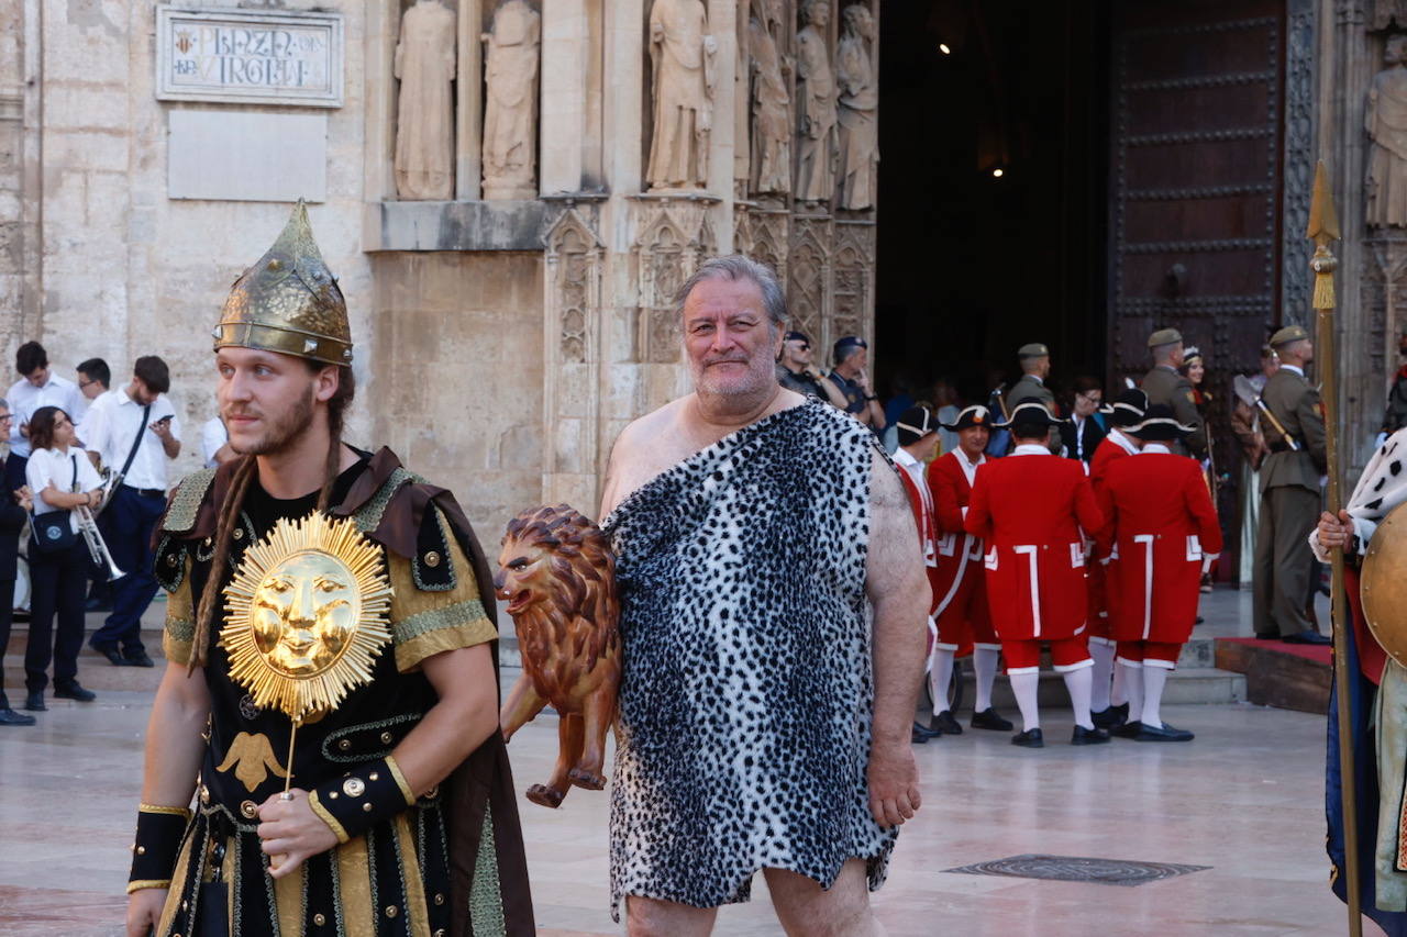
M 1145 741 L 1192 739 L 1162 722 L 1159 699 L 1202 620 L 1197 592 L 1211 591 L 1228 526 L 1217 494 L 1230 474 L 1216 463 L 1206 356 L 1171 328 L 1152 332 L 1147 345 L 1150 370 L 1137 387 L 1127 380 L 1109 405 L 1103 381 L 1090 376 L 1074 377 L 1057 395 L 1050 348 L 1033 342 L 1017 349 L 1014 383 L 960 409 L 943 378 L 916 400 L 899 377 L 881 407 L 865 374 L 864 339 L 836 342 L 836 367 L 826 374 L 812 363 L 809 338 L 787 333 L 777 366 L 782 385 L 853 415 L 905 470 L 933 588 L 933 718 L 915 723 L 915 743 L 962 732 L 947 699 L 954 660 L 969 654 L 971 726 L 1012 729 L 991 705 L 1000 654 L 1023 719 L 1013 743 L 1043 744 L 1041 644 L 1069 688 L 1076 744 L 1103 741 L 1106 729 Z M 1279 329 L 1261 349 L 1261 371 L 1244 378 L 1248 398 L 1237 397 L 1231 408 L 1228 428 L 1242 454 L 1241 568 L 1225 578 L 1252 585 L 1258 637 L 1323 644 L 1330 639 L 1314 619 L 1318 570 L 1307 539 L 1324 473 L 1318 395 L 1304 377 L 1311 360 L 1303 328 Z M 1401 395 L 1394 385 L 1386 421 Z M 1134 473 L 1110 473 L 1116 459 L 1134 453 L 1173 459 L 1141 459 Z M 1061 456 L 1071 468 L 1009 459 L 1037 454 Z M 1007 544 L 1021 553 L 1007 554 Z M 1065 560 L 1052 566 L 1057 556 Z

